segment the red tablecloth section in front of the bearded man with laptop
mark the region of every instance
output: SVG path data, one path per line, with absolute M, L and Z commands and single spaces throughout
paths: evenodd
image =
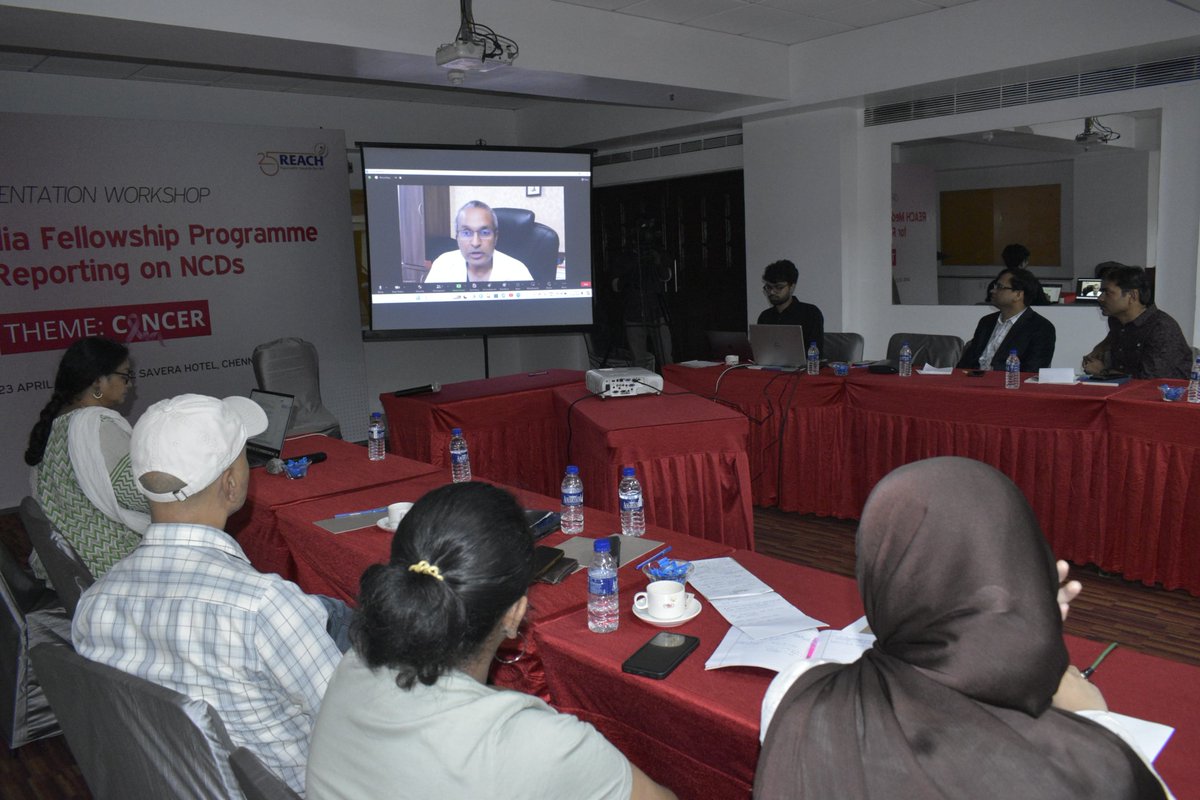
M 746 451 L 755 505 L 841 516 L 845 378 L 739 367 L 667 365 L 662 374 L 750 420 Z

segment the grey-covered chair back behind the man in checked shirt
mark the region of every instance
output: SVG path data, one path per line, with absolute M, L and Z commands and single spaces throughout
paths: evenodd
M 233 744 L 211 705 L 89 661 L 70 645 L 38 644 L 30 652 L 97 800 L 242 796 L 229 765 Z

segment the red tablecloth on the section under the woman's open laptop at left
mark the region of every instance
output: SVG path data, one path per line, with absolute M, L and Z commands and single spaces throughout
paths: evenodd
M 328 437 L 298 437 L 283 445 L 286 458 L 318 451 L 325 452 L 329 459 L 310 467 L 308 475 L 302 480 L 290 481 L 283 475 L 270 475 L 265 469 L 251 470 L 246 505 L 229 518 L 226 530 L 262 572 L 292 577 L 295 569 L 290 563 L 292 553 L 276 530 L 276 511 L 280 509 L 367 486 L 443 473 L 440 468 L 400 456 L 389 455 L 383 461 L 371 461 L 366 447 Z

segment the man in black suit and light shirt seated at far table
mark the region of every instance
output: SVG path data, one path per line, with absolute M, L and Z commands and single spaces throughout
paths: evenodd
M 1016 350 L 1022 372 L 1049 367 L 1054 359 L 1054 323 L 1028 308 L 1043 300 L 1042 284 L 1021 267 L 1006 269 L 991 285 L 988 297 L 997 311 L 976 325 L 974 336 L 962 353 L 960 367 L 1003 369 L 1009 350 Z

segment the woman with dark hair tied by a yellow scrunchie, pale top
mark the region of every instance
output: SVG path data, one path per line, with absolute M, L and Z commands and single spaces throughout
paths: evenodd
M 354 646 L 313 728 L 310 800 L 674 798 L 590 724 L 486 685 L 518 636 L 532 557 L 503 489 L 452 483 L 413 506 L 391 560 L 362 573 Z

